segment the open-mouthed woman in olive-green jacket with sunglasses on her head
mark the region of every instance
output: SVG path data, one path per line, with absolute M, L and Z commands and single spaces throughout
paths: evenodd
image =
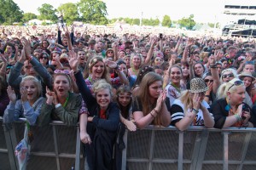
M 44 126 L 52 120 L 67 123 L 67 126 L 75 126 L 79 120 L 81 108 L 81 95 L 72 91 L 71 71 L 55 70 L 53 77 L 53 91 L 46 88 L 47 100 L 42 106 L 38 125 Z

